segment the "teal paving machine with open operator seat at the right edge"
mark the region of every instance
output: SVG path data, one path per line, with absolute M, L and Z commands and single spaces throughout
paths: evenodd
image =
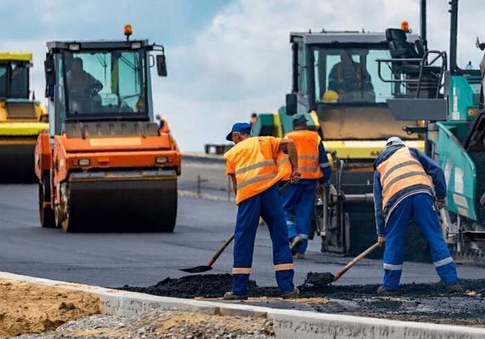
M 391 58 L 380 59 L 378 64 L 381 69 L 392 70 L 391 77 L 381 73 L 382 80 L 394 84 L 396 89 L 403 92 L 403 95 L 388 100 L 394 117 L 400 121 L 427 121 L 424 128 L 427 154 L 443 168 L 448 187 L 446 208 L 440 210 L 439 214 L 443 236 L 455 261 L 484 265 L 485 62 L 482 61 L 481 70 L 458 66 L 458 4 L 458 0 L 450 0 L 450 51 L 434 52 L 434 57 L 441 53 L 441 57 L 448 59 L 448 68 L 442 81 L 435 84 L 434 98 L 421 91 L 432 68 L 432 51 L 425 57 L 416 58 L 410 53 L 403 53 L 410 46 L 394 45 L 391 47 L 398 48 L 395 48 Z M 461 23 L 466 24 L 466 20 Z M 389 31 L 402 35 L 396 29 Z M 421 36 L 425 41 L 425 0 L 421 0 Z M 485 44 L 481 44 L 478 38 L 477 47 L 482 51 L 485 49 Z

